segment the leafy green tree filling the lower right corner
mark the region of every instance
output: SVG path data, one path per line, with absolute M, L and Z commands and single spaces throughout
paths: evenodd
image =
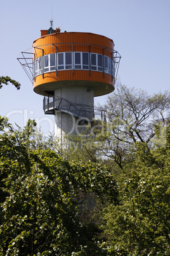
M 170 253 L 169 126 L 164 139 L 160 131 L 156 125 L 152 150 L 147 143 L 137 143 L 131 174 L 119 183 L 120 204 L 110 204 L 103 211 L 110 244 L 125 248 L 127 255 Z

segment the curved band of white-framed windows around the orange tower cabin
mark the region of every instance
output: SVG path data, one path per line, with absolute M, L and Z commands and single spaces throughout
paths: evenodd
M 77 53 L 79 53 L 79 62 L 76 63 Z M 63 56 L 63 61 L 60 64 L 60 55 Z M 70 60 L 67 62 L 67 55 L 70 55 Z M 84 57 L 86 56 L 86 59 Z M 52 63 L 52 57 L 53 63 Z M 92 63 L 92 58 L 95 62 Z M 47 63 L 47 65 L 46 65 Z M 53 64 L 53 66 L 51 66 Z M 99 66 L 100 65 L 100 66 Z M 104 66 L 104 67 L 103 67 Z M 51 71 L 62 70 L 89 70 L 107 73 L 115 76 L 114 60 L 107 55 L 102 55 L 95 52 L 58 52 L 42 55 L 34 60 L 34 77 Z

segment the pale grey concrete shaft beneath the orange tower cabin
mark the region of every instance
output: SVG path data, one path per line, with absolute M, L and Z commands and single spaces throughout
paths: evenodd
M 63 139 L 64 134 L 79 135 L 83 121 L 93 119 L 94 90 L 87 87 L 62 87 L 55 90 L 56 99 L 61 99 L 60 110 L 55 110 L 55 136 Z

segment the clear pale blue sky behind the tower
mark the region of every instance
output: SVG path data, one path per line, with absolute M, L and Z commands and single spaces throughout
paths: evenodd
M 32 47 L 41 29 L 93 32 L 114 40 L 121 56 L 119 78 L 128 87 L 150 94 L 169 90 L 170 1 L 169 0 L 1 0 L 0 76 L 10 76 L 22 84 L 0 90 L 0 115 L 8 115 L 21 127 L 35 118 L 44 133 L 53 131 L 53 116 L 42 110 L 42 96 L 32 89 L 20 66 L 19 53 Z M 96 97 L 95 103 L 105 103 Z

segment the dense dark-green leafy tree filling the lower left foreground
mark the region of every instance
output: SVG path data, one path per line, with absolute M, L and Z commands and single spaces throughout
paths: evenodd
M 1 188 L 8 192 L 1 203 L 0 255 L 106 255 L 97 242 L 99 227 L 84 222 L 82 211 L 86 202 L 93 211 L 94 199 L 117 201 L 110 170 L 30 147 L 34 121 L 23 131 L 6 118 L 0 124 Z

